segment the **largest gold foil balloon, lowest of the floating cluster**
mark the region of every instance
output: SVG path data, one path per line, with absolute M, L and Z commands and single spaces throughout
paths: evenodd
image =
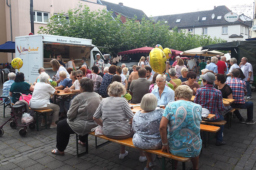
M 149 53 L 149 64 L 156 73 L 163 73 L 166 67 L 167 58 L 159 48 L 154 48 Z

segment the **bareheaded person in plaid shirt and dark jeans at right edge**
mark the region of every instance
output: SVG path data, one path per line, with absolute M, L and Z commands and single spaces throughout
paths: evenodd
M 226 81 L 226 84 L 232 89 L 233 99 L 235 99 L 234 103 L 231 104 L 233 108 L 239 109 L 247 109 L 247 119 L 241 116 L 239 110 L 236 110 L 234 113 L 236 117 L 239 119 L 240 123 L 245 124 L 254 124 L 255 121 L 253 118 L 253 103 L 245 102 L 244 95 L 247 93 L 246 91 L 246 83 L 243 80 L 239 79 L 240 71 L 238 69 L 233 69 L 231 71 L 231 80 Z

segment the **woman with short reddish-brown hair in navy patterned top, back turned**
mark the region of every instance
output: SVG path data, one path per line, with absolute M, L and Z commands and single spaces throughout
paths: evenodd
M 101 95 L 101 97 L 109 97 L 108 92 L 107 92 L 107 88 L 110 85 L 110 83 L 112 82 L 113 75 L 114 75 L 114 73 L 116 73 L 116 71 L 117 71 L 117 66 L 111 65 L 108 68 L 108 73 L 106 73 L 103 76 L 100 88 L 98 90 L 98 94 Z

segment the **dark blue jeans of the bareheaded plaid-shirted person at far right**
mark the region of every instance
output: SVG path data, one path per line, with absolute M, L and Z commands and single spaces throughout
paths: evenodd
M 238 109 L 247 109 L 247 119 L 250 121 L 253 118 L 253 103 L 252 102 L 245 102 L 243 103 L 232 103 L 231 106 L 233 108 L 238 108 Z M 239 112 L 239 110 L 235 110 L 234 112 L 236 114 L 236 117 L 238 119 L 241 119 L 242 116 Z

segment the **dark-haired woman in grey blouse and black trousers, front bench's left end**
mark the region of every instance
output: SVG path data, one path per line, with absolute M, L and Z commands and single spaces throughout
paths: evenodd
M 52 154 L 64 155 L 70 134 L 78 134 L 78 144 L 86 146 L 86 139 L 91 129 L 97 127 L 92 117 L 101 101 L 101 96 L 93 92 L 93 82 L 89 78 L 80 80 L 80 91 L 67 112 L 67 119 L 58 122 L 57 144 Z

